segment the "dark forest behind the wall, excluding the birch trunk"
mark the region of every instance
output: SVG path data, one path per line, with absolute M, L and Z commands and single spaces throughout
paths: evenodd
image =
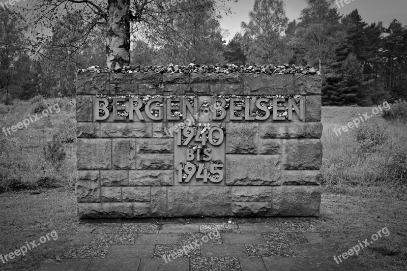
M 222 14 L 214 0 L 183 2 L 162 10 L 149 31 L 131 25 L 131 64 L 311 65 L 322 72 L 324 105 L 406 99 L 406 26 L 397 19 L 368 24 L 358 10 L 340 15 L 330 0 L 306 2 L 300 18 L 289 21 L 282 0 L 256 0 L 249 21 L 228 43 L 219 20 L 229 11 Z M 64 10 L 45 30 L 18 10 L 0 9 L 0 18 L 0 98 L 6 103 L 73 97 L 78 69 L 106 66 L 108 28 L 90 28 L 83 8 Z

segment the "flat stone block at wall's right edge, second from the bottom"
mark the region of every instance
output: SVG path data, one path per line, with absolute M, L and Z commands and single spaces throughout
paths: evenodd
M 322 174 L 319 170 L 282 170 L 282 185 L 320 185 Z

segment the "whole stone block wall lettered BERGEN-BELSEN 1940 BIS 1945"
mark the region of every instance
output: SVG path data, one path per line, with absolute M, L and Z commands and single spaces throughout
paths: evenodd
M 319 215 L 321 75 L 95 70 L 77 74 L 80 218 Z

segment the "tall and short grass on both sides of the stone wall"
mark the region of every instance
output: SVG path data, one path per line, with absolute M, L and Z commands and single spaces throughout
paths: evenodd
M 2 126 L 16 124 L 30 110 L 31 104 L 27 102 L 0 105 Z M 363 127 L 338 137 L 333 132 L 334 127 L 339 128 L 366 112 L 371 112 L 371 108 L 323 108 L 324 193 L 317 224 L 329 244 L 339 252 L 346 252 L 359 240 L 370 239 L 373 233 L 387 227 L 390 235 L 363 249 L 360 260 L 373 270 L 404 270 L 407 266 L 407 196 L 403 175 L 396 170 L 401 164 L 394 154 L 404 152 L 407 144 L 405 124 L 389 124 L 375 117 Z M 7 188 L 15 178 L 22 184 L 33 184 L 31 188 L 41 192 L 38 195 L 31 194 L 32 190 L 0 194 L 0 253 L 12 252 L 26 241 L 38 240 L 53 230 L 59 236 L 27 257 L 20 256 L 6 265 L 0 261 L 0 270 L 32 270 L 43 259 L 61 255 L 63 245 L 79 228 L 72 191 L 74 144 L 67 140 L 74 125 L 72 116 L 74 110 L 67 106 L 62 113 L 43 119 L 27 130 L 19 130 L 12 137 L 0 136 L 0 174 L 3 174 L 0 187 Z M 381 127 L 383 135 L 375 134 Z M 42 149 L 52 135 L 68 142 L 64 143 L 67 158 L 60 169 L 43 157 Z M 38 180 L 43 176 L 60 182 L 62 187 L 42 188 Z

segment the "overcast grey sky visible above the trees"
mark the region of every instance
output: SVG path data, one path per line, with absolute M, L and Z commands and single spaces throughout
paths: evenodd
M 284 0 L 285 11 L 290 21 L 298 19 L 302 9 L 306 7 L 305 0 Z M 229 17 L 223 16 L 221 27 L 227 29 L 229 36 L 225 37 L 229 41 L 236 32 L 240 31 L 240 23 L 248 22 L 248 13 L 253 9 L 254 0 L 239 0 L 237 4 L 228 6 L 234 12 Z M 371 22 L 383 21 L 384 26 L 389 26 L 390 22 L 396 18 L 403 25 L 407 25 L 407 0 L 352 0 L 344 7 L 335 7 L 341 14 L 349 14 L 357 9 L 363 20 Z

